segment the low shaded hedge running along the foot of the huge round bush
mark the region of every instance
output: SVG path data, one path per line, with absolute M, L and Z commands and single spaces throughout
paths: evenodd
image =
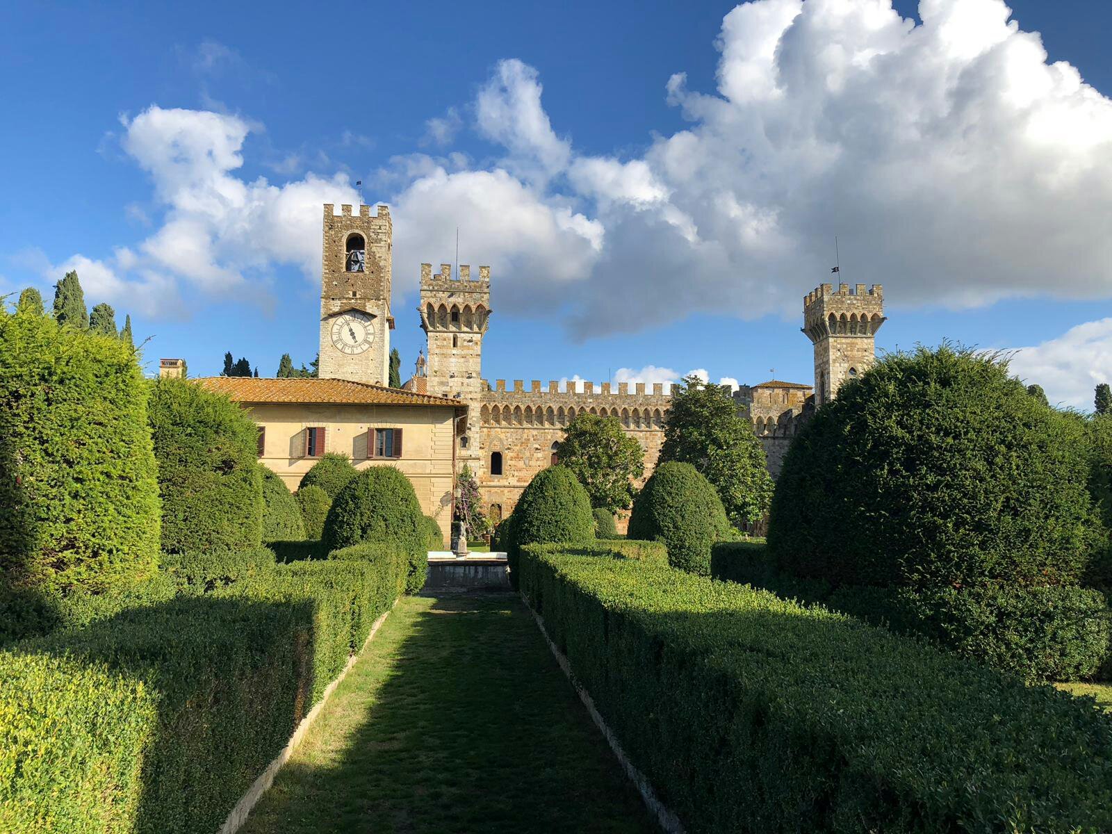
M 1026 681 L 1090 677 L 1109 656 L 1112 610 L 1089 588 L 835 588 L 777 570 L 764 545 L 743 542 L 715 545 L 711 575 L 929 637 Z

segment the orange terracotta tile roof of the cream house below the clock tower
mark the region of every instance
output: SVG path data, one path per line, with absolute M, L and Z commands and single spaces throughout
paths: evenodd
M 458 399 L 416 394 L 385 385 L 347 379 L 256 379 L 255 377 L 202 377 L 206 388 L 227 394 L 238 403 L 350 403 L 376 406 L 451 406 L 465 408 Z

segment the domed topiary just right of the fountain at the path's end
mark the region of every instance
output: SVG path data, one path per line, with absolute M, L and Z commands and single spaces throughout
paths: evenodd
M 575 473 L 563 466 L 549 466 L 533 476 L 517 499 L 512 518 L 506 564 L 515 588 L 522 545 L 590 542 L 595 537 L 595 517 L 587 490 Z

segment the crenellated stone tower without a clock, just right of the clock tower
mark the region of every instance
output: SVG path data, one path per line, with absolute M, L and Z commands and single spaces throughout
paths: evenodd
M 466 403 L 467 427 L 458 439 L 457 460 L 476 473 L 481 466 L 479 409 L 483 403 L 483 337 L 490 317 L 490 267 L 460 265 L 451 277 L 451 265 L 441 264 L 433 275 L 431 264 L 420 265 L 420 326 L 428 336 L 427 390 Z

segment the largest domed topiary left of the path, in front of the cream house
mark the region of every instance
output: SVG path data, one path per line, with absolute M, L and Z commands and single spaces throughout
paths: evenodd
M 371 466 L 348 480 L 325 519 L 325 550 L 363 542 L 395 544 L 409 556 L 406 590 L 420 590 L 428 572 L 425 516 L 409 478 L 393 466 Z

